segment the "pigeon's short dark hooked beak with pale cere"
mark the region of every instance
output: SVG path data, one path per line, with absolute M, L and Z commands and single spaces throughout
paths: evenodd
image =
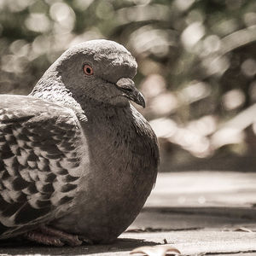
M 119 79 L 116 83 L 116 86 L 123 92 L 123 96 L 145 108 L 146 104 L 143 94 L 137 90 L 134 82 L 131 79 Z

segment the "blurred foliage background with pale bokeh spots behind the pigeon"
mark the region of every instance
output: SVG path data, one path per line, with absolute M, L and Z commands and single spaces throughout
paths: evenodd
M 254 171 L 255 0 L 0 0 L 0 93 L 28 94 L 94 38 L 136 57 L 161 172 Z

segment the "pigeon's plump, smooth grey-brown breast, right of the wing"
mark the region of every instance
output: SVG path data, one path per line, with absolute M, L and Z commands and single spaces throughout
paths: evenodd
M 92 127 L 87 131 L 90 173 L 81 183 L 76 218 L 60 223 L 61 229 L 69 223 L 93 241 L 111 241 L 137 217 L 153 187 L 158 146 L 138 113 L 113 116 L 105 125 Z

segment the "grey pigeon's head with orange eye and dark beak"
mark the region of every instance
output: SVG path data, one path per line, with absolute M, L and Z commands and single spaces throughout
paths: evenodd
M 143 95 L 132 81 L 137 62 L 113 41 L 91 40 L 67 49 L 53 64 L 52 73 L 78 102 L 122 107 L 131 100 L 145 107 Z

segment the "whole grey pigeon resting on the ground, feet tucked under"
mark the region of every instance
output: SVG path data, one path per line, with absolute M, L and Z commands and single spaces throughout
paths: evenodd
M 0 239 L 114 241 L 154 187 L 159 146 L 121 44 L 67 49 L 28 96 L 0 95 Z

